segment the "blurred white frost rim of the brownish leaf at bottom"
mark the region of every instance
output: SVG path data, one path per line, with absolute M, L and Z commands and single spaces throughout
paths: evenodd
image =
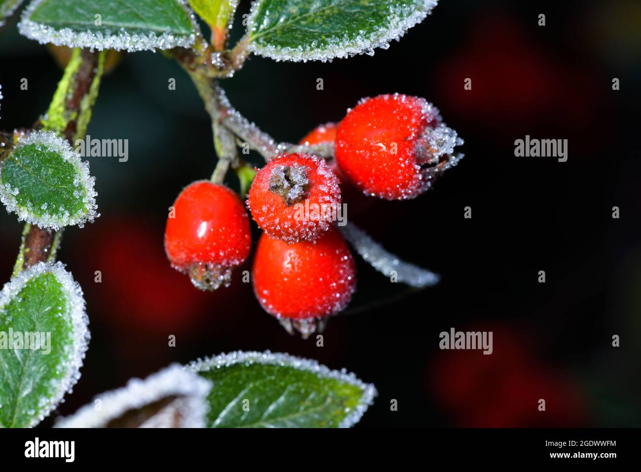
M 126 387 L 104 392 L 94 401 L 83 406 L 76 414 L 60 419 L 56 428 L 101 428 L 114 418 L 132 408 L 142 408 L 149 403 L 167 396 L 187 398 L 183 414 L 184 428 L 204 428 L 205 415 L 209 410 L 206 397 L 212 383 L 201 376 L 187 371 L 179 364 L 172 364 L 145 380 L 137 378 L 128 381 Z M 101 409 L 96 410 L 94 402 L 100 400 Z

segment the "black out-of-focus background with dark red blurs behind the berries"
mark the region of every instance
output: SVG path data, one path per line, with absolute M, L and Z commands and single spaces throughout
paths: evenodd
M 537 26 L 539 13 L 546 26 Z M 31 125 L 62 76 L 15 22 L 0 35 L 4 130 Z M 65 231 L 59 254 L 85 290 L 92 340 L 58 414 L 171 362 L 270 349 L 373 382 L 379 397 L 361 426 L 641 426 L 640 24 L 635 0 L 442 0 L 374 57 L 253 57 L 222 83 L 240 112 L 281 141 L 392 92 L 432 101 L 465 139 L 465 159 L 425 195 L 347 201 L 350 220 L 442 283 L 401 293 L 361 265 L 358 293 L 329 322 L 324 347 L 287 335 L 239 272 L 230 288 L 200 293 L 169 267 L 167 209 L 181 188 L 211 175 L 210 123 L 176 64 L 160 53 L 126 55 L 103 80 L 88 134 L 129 139 L 129 161 L 89 159 L 102 216 Z M 468 77 L 472 91 L 463 90 Z M 568 139 L 568 161 L 515 157 L 513 143 L 526 134 Z M 22 223 L 1 213 L 8 281 Z M 494 354 L 440 351 L 438 334 L 451 327 L 494 331 Z

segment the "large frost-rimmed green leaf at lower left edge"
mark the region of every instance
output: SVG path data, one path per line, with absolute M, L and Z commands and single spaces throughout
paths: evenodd
M 0 426 L 35 426 L 80 377 L 89 331 L 80 286 L 38 263 L 0 293 Z

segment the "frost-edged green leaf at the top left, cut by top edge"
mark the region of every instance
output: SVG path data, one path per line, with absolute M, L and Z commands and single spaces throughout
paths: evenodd
M 98 50 L 187 48 L 197 34 L 183 0 L 35 0 L 18 26 L 42 44 Z

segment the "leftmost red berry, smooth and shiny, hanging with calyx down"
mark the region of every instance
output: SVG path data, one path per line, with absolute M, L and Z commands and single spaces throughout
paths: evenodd
M 245 261 L 250 246 L 247 211 L 226 186 L 200 180 L 178 195 L 167 219 L 165 252 L 197 288 L 229 285 L 231 269 Z

